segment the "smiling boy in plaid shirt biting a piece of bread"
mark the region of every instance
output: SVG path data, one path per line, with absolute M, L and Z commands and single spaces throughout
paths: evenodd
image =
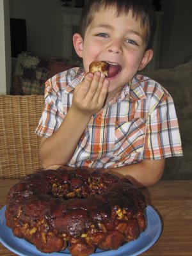
M 136 76 L 152 59 L 155 19 L 147 0 L 89 1 L 73 36 L 84 70 L 45 83 L 36 129 L 44 168 L 102 168 L 143 187 L 161 178 L 165 157 L 182 156 L 172 97 Z M 109 76 L 90 73 L 92 61 L 107 61 Z

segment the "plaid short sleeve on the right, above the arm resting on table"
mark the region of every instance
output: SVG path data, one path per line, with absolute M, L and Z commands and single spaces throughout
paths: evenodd
M 182 146 L 173 99 L 166 94 L 148 116 L 143 159 L 173 156 L 182 156 Z

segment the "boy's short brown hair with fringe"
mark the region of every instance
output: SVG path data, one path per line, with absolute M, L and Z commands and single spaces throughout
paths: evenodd
M 116 8 L 116 16 L 127 15 L 131 10 L 132 16 L 140 19 L 141 27 L 147 28 L 146 50 L 152 49 L 156 31 L 156 14 L 148 0 L 90 0 L 83 8 L 79 23 L 80 34 L 84 38 L 86 29 L 92 22 L 95 13 L 108 8 Z

